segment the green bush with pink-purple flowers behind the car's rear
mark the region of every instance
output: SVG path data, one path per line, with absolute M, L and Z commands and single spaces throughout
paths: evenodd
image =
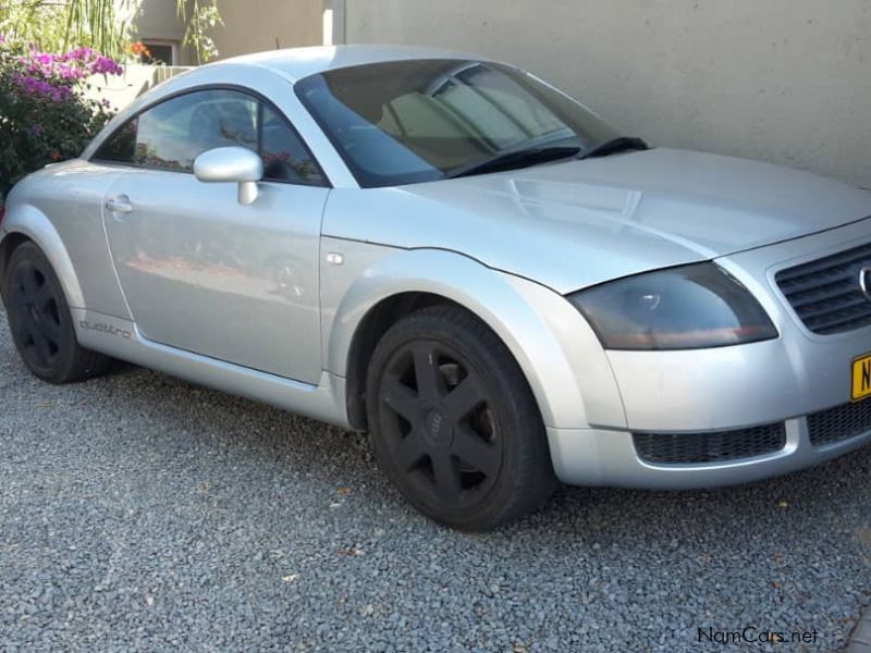
M 90 48 L 51 54 L 0 35 L 0 204 L 26 174 L 82 152 L 112 116 L 107 100 L 85 97 L 87 78 L 122 73 Z

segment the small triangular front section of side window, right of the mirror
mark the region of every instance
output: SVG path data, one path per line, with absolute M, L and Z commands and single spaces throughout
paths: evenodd
M 323 172 L 299 136 L 283 116 L 266 104 L 263 104 L 260 156 L 263 158 L 265 181 L 308 186 L 327 185 Z

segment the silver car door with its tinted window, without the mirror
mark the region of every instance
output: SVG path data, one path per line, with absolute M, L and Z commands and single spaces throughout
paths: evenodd
M 216 147 L 258 151 L 265 180 L 242 206 L 235 184 L 204 184 L 194 159 Z M 236 90 L 152 107 L 96 159 L 124 170 L 103 222 L 142 335 L 255 370 L 320 379 L 318 258 L 326 177 L 286 119 Z

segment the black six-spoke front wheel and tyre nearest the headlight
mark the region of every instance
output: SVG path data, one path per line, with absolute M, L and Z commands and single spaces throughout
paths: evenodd
M 381 467 L 441 523 L 490 529 L 556 486 L 526 379 L 499 337 L 458 307 L 394 324 L 372 355 L 366 395 Z

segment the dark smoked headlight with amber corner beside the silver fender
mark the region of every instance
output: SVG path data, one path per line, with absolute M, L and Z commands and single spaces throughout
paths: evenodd
M 714 263 L 618 279 L 568 300 L 606 349 L 698 349 L 777 337 L 756 298 Z

